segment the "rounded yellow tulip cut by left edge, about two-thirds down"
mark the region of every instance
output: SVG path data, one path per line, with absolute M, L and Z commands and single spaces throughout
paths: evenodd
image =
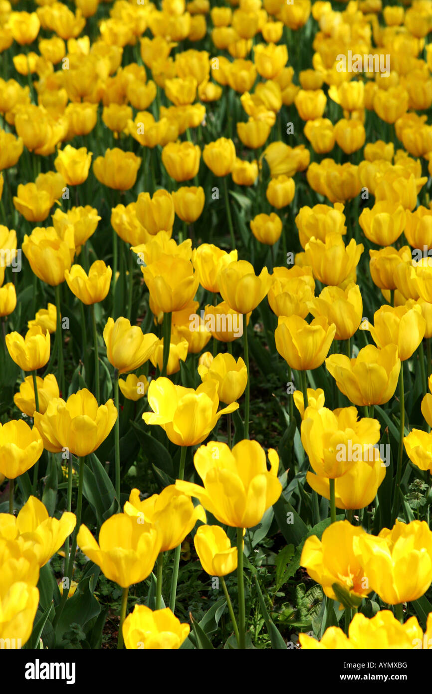
M 31 429 L 24 419 L 0 424 L 0 473 L 9 480 L 29 470 L 40 459 L 42 450 L 40 433 L 36 427 Z

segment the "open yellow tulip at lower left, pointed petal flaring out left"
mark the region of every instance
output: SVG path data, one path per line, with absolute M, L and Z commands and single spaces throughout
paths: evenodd
M 77 543 L 110 581 L 128 588 L 141 583 L 152 572 L 161 538 L 150 523 L 138 523 L 133 516 L 116 514 L 103 523 L 99 543 L 86 525 L 81 525 Z

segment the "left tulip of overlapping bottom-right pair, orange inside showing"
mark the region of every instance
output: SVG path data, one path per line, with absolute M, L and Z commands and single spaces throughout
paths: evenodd
M 338 521 L 326 528 L 322 539 L 316 535 L 306 538 L 300 557 L 300 566 L 322 586 L 328 598 L 339 599 L 333 587 L 337 584 L 352 607 L 358 607 L 372 591 L 361 557 L 354 552 L 354 538 L 365 534 L 362 527 Z

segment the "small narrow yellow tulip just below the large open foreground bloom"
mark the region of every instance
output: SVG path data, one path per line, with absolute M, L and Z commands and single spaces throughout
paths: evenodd
M 210 576 L 227 576 L 237 568 L 237 548 L 220 525 L 200 525 L 193 538 L 201 566 Z

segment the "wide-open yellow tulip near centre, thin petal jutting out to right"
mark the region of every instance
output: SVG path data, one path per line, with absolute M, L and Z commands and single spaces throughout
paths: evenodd
M 150 383 L 148 404 L 153 412 L 144 412 L 146 424 L 158 424 L 176 446 L 195 446 L 207 438 L 223 414 L 239 409 L 232 403 L 218 411 L 218 385 L 209 380 L 193 388 L 175 386 L 168 378 Z

